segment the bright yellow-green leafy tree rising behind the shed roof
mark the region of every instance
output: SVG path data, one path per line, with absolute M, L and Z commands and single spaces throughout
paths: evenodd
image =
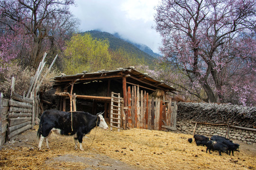
M 64 73 L 77 74 L 108 69 L 111 63 L 107 40 L 93 39 L 90 34 L 74 34 L 67 43 Z

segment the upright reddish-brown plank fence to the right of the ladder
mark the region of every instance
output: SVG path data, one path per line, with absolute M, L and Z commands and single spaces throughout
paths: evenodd
M 123 126 L 151 130 L 176 130 L 177 104 L 171 100 L 163 101 L 149 97 L 149 93 L 139 90 L 138 86 L 128 87 L 127 114 Z

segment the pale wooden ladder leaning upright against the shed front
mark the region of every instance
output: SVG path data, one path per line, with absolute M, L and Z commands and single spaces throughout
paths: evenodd
M 120 132 L 121 125 L 121 97 L 120 93 L 111 93 L 111 107 L 110 107 L 110 130 L 116 127 Z

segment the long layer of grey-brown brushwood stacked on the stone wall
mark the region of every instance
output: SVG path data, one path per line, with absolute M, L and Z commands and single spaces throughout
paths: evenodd
M 203 102 L 179 102 L 177 119 L 253 127 L 256 126 L 256 107 Z

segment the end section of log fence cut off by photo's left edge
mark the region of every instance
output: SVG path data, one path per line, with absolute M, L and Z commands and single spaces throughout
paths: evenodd
M 0 93 L 0 148 L 6 142 L 6 131 L 8 126 L 9 99 L 4 99 Z

